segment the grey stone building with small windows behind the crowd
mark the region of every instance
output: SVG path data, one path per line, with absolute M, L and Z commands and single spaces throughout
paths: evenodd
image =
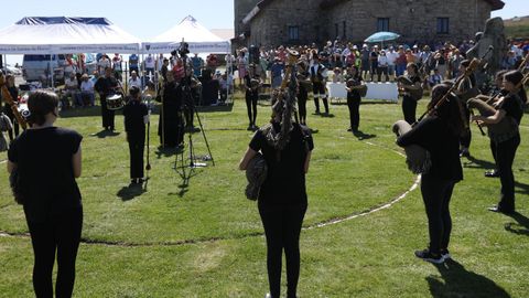
M 235 0 L 235 44 L 361 42 L 378 31 L 402 42 L 473 39 L 500 0 Z

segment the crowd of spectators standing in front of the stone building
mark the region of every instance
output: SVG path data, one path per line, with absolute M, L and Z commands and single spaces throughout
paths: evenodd
M 439 42 L 433 45 L 420 42 L 411 45 L 407 43 L 355 44 L 336 40 L 328 41 L 323 46 L 312 43 L 291 47 L 296 50 L 300 53 L 300 60 L 307 62 L 309 65 L 312 65 L 314 55 L 319 55 L 320 62 L 332 73 L 330 78 L 333 82 L 343 82 L 344 74 L 350 65 L 360 70 L 365 81 L 393 82 L 396 77 L 404 74 L 406 65 L 413 62 L 429 85 L 433 86 L 443 79 L 456 77 L 461 62 L 474 45 L 473 40 L 458 43 Z M 241 84 L 242 77 L 248 72 L 248 65 L 252 63 L 257 66 L 261 81 L 270 79 L 272 87 L 278 86 L 287 63 L 285 47 L 283 45 L 261 46 L 257 51 L 252 51 L 252 47 L 238 49 L 235 57 L 229 57 L 233 65 L 229 71 L 238 72 L 239 84 Z M 528 51 L 529 41 L 510 42 L 508 51 L 501 57 L 501 68 L 516 68 L 517 63 Z

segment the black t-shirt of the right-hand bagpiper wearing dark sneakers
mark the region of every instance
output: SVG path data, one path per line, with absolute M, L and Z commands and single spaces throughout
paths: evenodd
M 419 145 L 430 152 L 432 167 L 427 174 L 439 179 L 461 181 L 463 169 L 460 160 L 460 138 L 451 134 L 447 124 L 436 117 L 428 117 L 413 129 L 400 136 L 397 145 Z

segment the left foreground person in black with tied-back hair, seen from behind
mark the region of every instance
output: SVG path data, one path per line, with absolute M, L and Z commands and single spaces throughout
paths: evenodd
M 12 142 L 8 152 L 8 171 L 18 171 L 23 192 L 22 203 L 34 253 L 36 297 L 53 297 L 55 255 L 58 265 L 56 297 L 72 297 L 83 226 L 80 192 L 75 181 L 80 175 L 83 137 L 53 126 L 57 106 L 56 94 L 33 93 L 28 100 L 32 126 Z

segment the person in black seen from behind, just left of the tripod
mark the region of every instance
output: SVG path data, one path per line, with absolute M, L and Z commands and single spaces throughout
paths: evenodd
M 129 100 L 123 108 L 125 131 L 127 131 L 130 151 L 130 181 L 138 184 L 143 182 L 143 148 L 149 110 L 141 102 L 140 88 L 132 86 L 129 93 Z

